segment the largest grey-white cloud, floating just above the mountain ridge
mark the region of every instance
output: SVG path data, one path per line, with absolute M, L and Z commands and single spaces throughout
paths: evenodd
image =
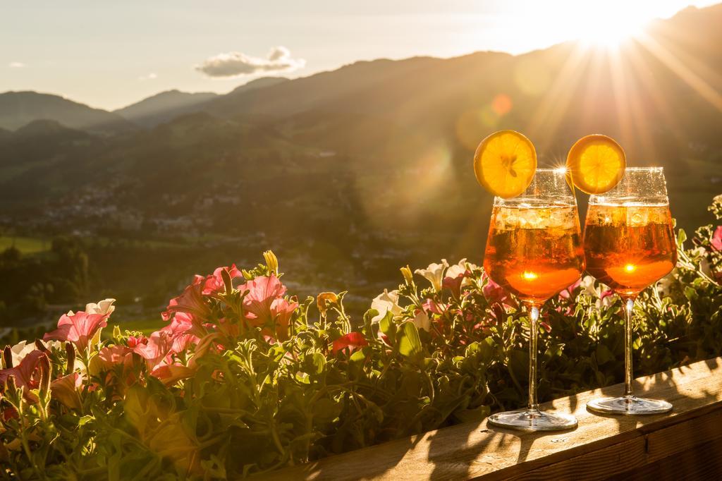
M 292 58 L 288 48 L 279 46 L 271 48 L 266 58 L 240 52 L 219 53 L 196 65 L 196 70 L 208 77 L 238 77 L 266 71 L 291 71 L 301 69 L 305 64 L 303 58 Z

